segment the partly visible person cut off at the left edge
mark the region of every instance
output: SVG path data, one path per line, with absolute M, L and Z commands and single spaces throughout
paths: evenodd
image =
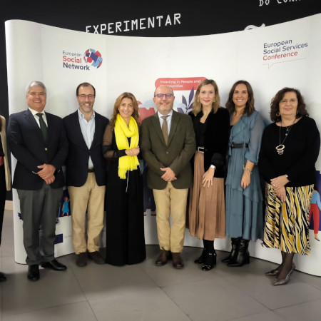
M 6 119 L 0 115 L 0 245 L 6 191 L 11 189 L 11 174 L 9 170 L 8 152 L 6 150 Z M 6 275 L 0 272 L 0 282 L 6 281 Z

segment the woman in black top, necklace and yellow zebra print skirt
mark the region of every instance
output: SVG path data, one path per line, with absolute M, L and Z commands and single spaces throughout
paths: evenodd
M 280 249 L 282 263 L 265 274 L 276 276 L 273 285 L 285 285 L 295 270 L 295 253 L 310 254 L 309 212 L 320 133 L 295 88 L 277 92 L 270 118 L 259 158 L 266 185 L 263 246 Z

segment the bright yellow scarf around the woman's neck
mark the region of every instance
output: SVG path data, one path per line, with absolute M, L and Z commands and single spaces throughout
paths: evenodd
M 133 117 L 129 120 L 127 126 L 126 122 L 123 120 L 121 115 L 117 115 L 115 122 L 115 137 L 116 144 L 119 150 L 131 149 L 138 146 L 139 133 L 138 126 Z M 128 144 L 128 139 L 131 138 L 131 146 Z M 118 176 L 121 179 L 126 178 L 126 173 L 128 170 L 136 170 L 139 165 L 137 156 L 122 156 L 118 161 Z

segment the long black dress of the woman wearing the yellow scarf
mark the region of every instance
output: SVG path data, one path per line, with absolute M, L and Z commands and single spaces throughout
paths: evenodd
M 108 159 L 106 185 L 106 263 L 130 265 L 146 258 L 143 180 L 141 170 L 129 170 L 126 179 L 118 176 L 119 151 L 115 133 L 108 125 L 103 136 L 103 153 Z

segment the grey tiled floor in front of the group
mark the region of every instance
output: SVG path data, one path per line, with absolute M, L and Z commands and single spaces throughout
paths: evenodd
M 38 282 L 26 278 L 26 265 L 14 262 L 12 212 L 6 210 L 0 270 L 0 321 L 9 320 L 151 320 L 151 321 L 319 321 L 321 277 L 295 271 L 290 283 L 272 286 L 264 272 L 276 265 L 251 259 L 245 267 L 226 267 L 220 260 L 209 272 L 193 260 L 198 248 L 184 248 L 185 268 L 156 267 L 156 245 L 138 265 L 75 265 L 75 255 L 59 258 L 66 272 L 41 268 Z

